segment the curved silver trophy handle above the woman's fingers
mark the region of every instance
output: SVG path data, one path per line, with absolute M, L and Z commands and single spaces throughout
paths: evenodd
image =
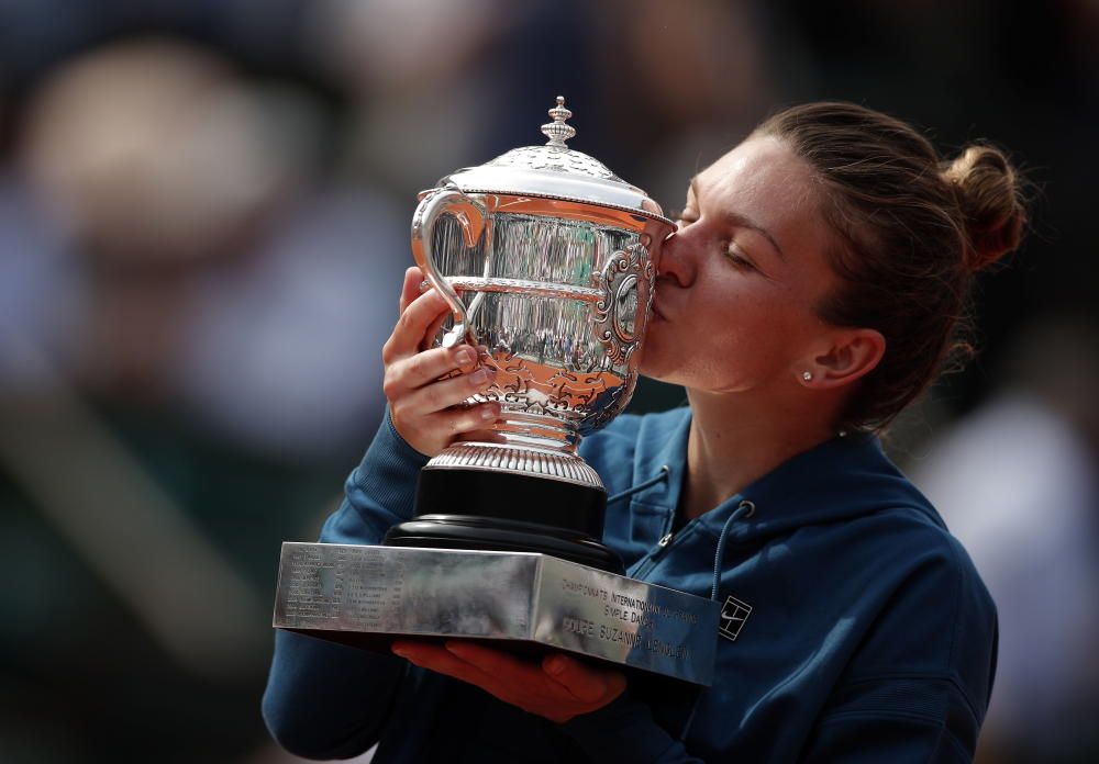
M 449 282 L 440 273 L 435 267 L 435 257 L 432 251 L 432 232 L 435 221 L 443 213 L 451 213 L 462 226 L 462 238 L 466 247 L 470 249 L 477 246 L 485 229 L 485 215 L 474 201 L 455 187 L 445 187 L 432 191 L 417 207 L 412 216 L 412 257 L 420 270 L 428 277 L 428 281 L 439 290 L 443 300 L 454 313 L 454 328 L 443 337 L 443 347 L 454 347 L 458 342 L 467 341 L 470 334 L 469 311 L 463 304 L 458 293 L 451 286 Z M 476 341 L 473 342 L 476 345 Z

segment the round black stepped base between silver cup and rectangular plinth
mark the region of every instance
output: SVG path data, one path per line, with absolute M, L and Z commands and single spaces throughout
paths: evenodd
M 414 518 L 389 529 L 387 547 L 535 552 L 622 575 L 603 535 L 607 493 L 507 472 L 424 469 Z M 515 519 L 522 517 L 523 519 Z

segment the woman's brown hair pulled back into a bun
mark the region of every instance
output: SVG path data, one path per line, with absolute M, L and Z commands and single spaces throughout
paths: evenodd
M 821 186 L 840 286 L 818 313 L 886 338 L 885 356 L 837 424 L 880 430 L 944 362 L 972 355 L 973 274 L 1019 245 L 1022 180 L 992 146 L 975 144 L 944 161 L 907 123 L 852 103 L 795 106 L 754 135 L 786 142 Z

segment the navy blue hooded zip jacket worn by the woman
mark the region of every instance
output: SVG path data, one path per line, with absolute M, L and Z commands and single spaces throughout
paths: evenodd
M 379 763 L 970 761 L 996 610 L 877 440 L 835 438 L 798 454 L 667 541 L 689 425 L 686 408 L 621 416 L 581 453 L 611 495 L 653 482 L 608 507 L 603 540 L 630 575 L 735 600 L 726 613 L 742 622 L 735 640 L 718 639 L 712 687 L 653 696 L 631 686 L 555 724 L 397 658 L 279 632 L 263 705 L 271 733 L 314 759 L 380 740 Z M 425 461 L 384 423 L 321 540 L 378 542 L 409 518 Z

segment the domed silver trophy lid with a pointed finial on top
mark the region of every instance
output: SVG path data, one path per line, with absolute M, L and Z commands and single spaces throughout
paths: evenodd
M 465 193 L 593 204 L 675 226 L 648 194 L 619 178 L 598 159 L 565 144 L 576 135 L 576 128 L 566 124 L 573 112 L 565 108 L 563 96 L 557 97 L 557 105 L 550 110 L 550 116 L 553 122 L 542 125 L 542 134 L 550 138 L 544 146 L 513 148 L 485 165 L 452 172 L 441 179 L 439 186 L 456 186 Z

